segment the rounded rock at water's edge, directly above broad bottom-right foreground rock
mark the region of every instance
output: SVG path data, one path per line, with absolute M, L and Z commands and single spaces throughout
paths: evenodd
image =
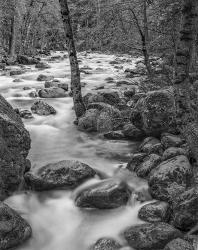
M 151 223 L 168 222 L 170 217 L 169 204 L 161 201 L 146 204 L 139 210 L 138 217 Z

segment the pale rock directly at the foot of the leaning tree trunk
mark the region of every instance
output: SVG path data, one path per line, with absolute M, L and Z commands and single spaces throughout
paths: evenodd
M 78 129 L 87 132 L 97 131 L 97 119 L 99 111 L 97 109 L 89 109 L 83 117 L 79 118 Z

